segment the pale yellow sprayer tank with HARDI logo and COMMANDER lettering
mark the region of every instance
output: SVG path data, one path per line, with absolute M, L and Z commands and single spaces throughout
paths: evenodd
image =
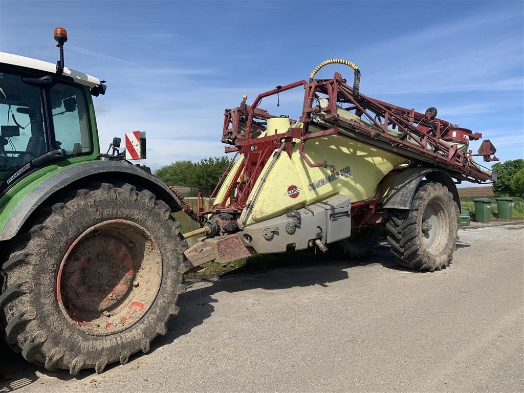
M 282 122 L 281 118 L 269 119 L 268 132 L 269 124 L 273 123 L 271 121 Z M 375 198 L 380 181 L 393 168 L 406 161 L 403 157 L 358 141 L 328 136 L 308 141 L 305 144 L 305 155 L 312 162 L 329 157 L 329 163 L 334 168 L 310 168 L 300 157 L 299 141 L 296 142 L 291 150 L 291 157 L 287 154 L 280 155 L 269 171 L 268 178 L 254 201 L 252 212 L 242 213 L 240 222 L 243 226 L 339 193 L 349 196 L 352 203 Z M 263 173 L 269 165 L 270 162 L 262 170 Z M 261 178 L 255 183 L 254 190 L 260 181 Z

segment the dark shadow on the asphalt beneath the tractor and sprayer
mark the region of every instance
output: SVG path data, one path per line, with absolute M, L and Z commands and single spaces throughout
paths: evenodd
M 462 247 L 466 246 L 468 245 L 462 245 Z M 457 245 L 457 247 L 461 247 L 461 245 Z M 375 247 L 374 254 L 361 259 L 347 259 L 340 254 L 321 255 L 305 260 L 303 264 L 296 266 L 275 266 L 269 270 L 246 273 L 241 270 L 240 274 L 238 271 L 233 271 L 219 279 L 189 282 L 188 292 L 182 294 L 179 299 L 179 314 L 172 316 L 169 320 L 166 335 L 159 335 L 151 342 L 150 353 L 187 335 L 192 329 L 210 318 L 215 309 L 213 303 L 217 302 L 213 298 L 215 293 L 232 293 L 256 288 L 277 290 L 315 285 L 329 287 L 330 283 L 348 279 L 352 268 L 375 264 L 399 272 L 429 274 L 424 271 L 413 271 L 399 265 L 389 252 L 389 246 L 380 243 Z M 49 372 L 43 367 L 29 364 L 20 354 L 13 353 L 3 342 L 0 344 L 0 354 L 0 393 L 38 383 L 42 375 L 63 381 L 82 380 L 91 377 L 88 381 L 92 382 L 93 379 L 100 380 L 111 377 L 111 370 L 120 366 L 119 363 L 107 365 L 101 376 L 95 374 L 94 369 L 84 369 L 77 376 L 71 376 L 68 370 Z M 128 364 L 124 367 L 129 370 L 139 367 L 141 363 L 147 361 L 147 358 L 143 358 L 143 356 L 142 352 L 130 356 Z M 43 384 L 44 382 L 40 381 L 40 383 Z M 93 384 L 93 387 L 95 385 Z

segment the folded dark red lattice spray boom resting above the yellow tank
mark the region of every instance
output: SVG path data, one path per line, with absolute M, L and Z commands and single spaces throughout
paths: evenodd
M 301 118 L 305 134 L 308 125 L 322 125 L 331 135 L 341 134 L 407 159 L 444 168 L 456 179 L 491 180 L 490 174 L 472 160 L 472 150 L 461 151 L 482 134 L 432 118 L 430 110 L 423 114 L 361 93 L 355 96 L 339 73 L 330 80 L 313 80 L 306 89 L 306 97 Z M 315 100 L 320 105 L 314 105 Z M 342 108 L 339 103 L 350 106 Z M 493 152 L 483 154 L 485 161 L 490 160 L 490 154 Z

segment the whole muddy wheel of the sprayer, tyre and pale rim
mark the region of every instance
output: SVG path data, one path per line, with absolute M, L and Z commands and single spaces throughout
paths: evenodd
M 403 266 L 441 270 L 456 250 L 459 207 L 440 183 L 426 183 L 411 201 L 410 210 L 390 211 L 386 224 L 391 252 Z

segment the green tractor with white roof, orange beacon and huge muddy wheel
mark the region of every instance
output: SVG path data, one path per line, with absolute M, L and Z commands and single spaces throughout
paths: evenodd
M 187 243 L 177 196 L 118 138 L 101 154 L 104 81 L 65 68 L 54 38 L 57 64 L 0 53 L 0 320 L 27 361 L 101 373 L 166 333 Z

